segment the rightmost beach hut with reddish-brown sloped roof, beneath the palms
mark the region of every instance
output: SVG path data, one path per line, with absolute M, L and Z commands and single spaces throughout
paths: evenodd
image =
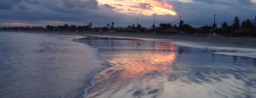
M 241 29 L 231 32 L 231 36 L 249 36 L 251 34 L 251 29 L 249 27 L 242 27 Z

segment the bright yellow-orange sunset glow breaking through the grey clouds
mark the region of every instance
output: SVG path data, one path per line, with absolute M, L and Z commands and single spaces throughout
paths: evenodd
M 123 14 L 143 14 L 143 15 L 177 15 L 172 10 L 172 5 L 165 0 L 98 0 L 99 5 L 105 5 L 116 12 Z

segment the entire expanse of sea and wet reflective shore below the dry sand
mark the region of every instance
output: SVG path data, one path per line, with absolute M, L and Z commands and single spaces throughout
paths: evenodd
M 0 98 L 256 97 L 255 49 L 154 40 L 1 32 Z

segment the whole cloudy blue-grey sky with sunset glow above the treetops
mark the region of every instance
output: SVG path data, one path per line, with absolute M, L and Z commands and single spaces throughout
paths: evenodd
M 150 28 L 160 23 L 178 25 L 179 20 L 193 27 L 217 27 L 254 20 L 256 0 L 0 0 L 0 27 L 63 26 L 75 24 L 103 27 L 136 26 Z M 181 17 L 180 17 L 181 16 Z

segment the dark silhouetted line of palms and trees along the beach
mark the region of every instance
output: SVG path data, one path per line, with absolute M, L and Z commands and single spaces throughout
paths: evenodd
M 114 28 L 114 22 L 110 24 L 107 24 L 106 26 L 103 27 L 98 27 L 99 29 L 103 30 L 103 31 L 107 31 L 109 28 Z M 63 26 L 53 26 L 53 25 L 47 25 L 46 27 L 3 27 L 0 28 L 1 30 L 43 30 L 43 29 L 48 29 L 48 30 L 59 30 L 59 31 L 66 31 L 66 30 L 78 30 L 78 31 L 88 31 L 90 29 L 92 29 L 92 23 L 89 23 L 88 25 L 84 25 L 84 26 L 76 26 L 76 25 L 69 25 L 69 24 L 64 24 Z M 128 25 L 127 27 L 130 27 L 134 30 L 140 31 L 140 32 L 146 32 L 148 31 L 145 27 L 142 27 L 141 24 L 138 24 L 138 26 L 135 26 L 134 24 L 132 24 L 131 26 Z M 170 23 L 160 23 L 159 24 L 159 30 L 163 31 L 166 30 L 170 27 L 173 27 L 174 29 L 178 30 L 178 31 L 182 31 L 186 34 L 196 34 L 196 33 L 203 33 L 203 34 L 207 34 L 209 33 L 209 30 L 214 30 L 214 32 L 216 34 L 219 35 L 225 35 L 227 33 L 231 33 L 234 30 L 238 30 L 242 27 L 248 27 L 249 29 L 251 29 L 251 33 L 256 34 L 256 15 L 255 15 L 255 19 L 254 20 L 250 20 L 250 19 L 246 19 L 244 21 L 242 21 L 240 23 L 240 19 L 236 16 L 233 19 L 233 24 L 228 25 L 226 22 L 221 23 L 221 27 L 217 27 L 217 25 L 214 23 L 212 24 L 212 26 L 207 26 L 207 24 L 205 26 L 200 27 L 200 29 L 198 28 L 194 28 L 192 26 L 190 26 L 189 24 L 185 24 L 183 20 L 180 20 L 180 23 L 174 24 L 172 26 L 172 24 Z M 155 25 L 152 25 L 152 29 L 149 29 L 149 31 L 154 31 L 155 30 Z

